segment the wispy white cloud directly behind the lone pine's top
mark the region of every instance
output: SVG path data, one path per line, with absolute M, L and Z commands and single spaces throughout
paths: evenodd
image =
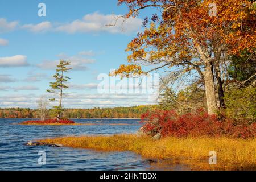
M 71 61 L 71 67 L 73 68 L 73 70 L 84 71 L 88 69 L 88 67 L 86 67 L 86 64 L 91 64 L 95 62 L 94 59 L 89 59 L 82 55 L 68 56 L 65 53 L 60 53 L 59 55 L 57 55 L 57 57 L 59 58 L 58 60 L 43 61 L 42 63 L 38 64 L 38 67 L 42 69 L 56 69 L 56 65 L 59 64 L 59 61 L 62 59 Z

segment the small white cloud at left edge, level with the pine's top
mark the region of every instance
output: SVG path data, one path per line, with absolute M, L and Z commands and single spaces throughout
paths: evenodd
M 24 55 L 0 57 L 0 67 L 22 67 L 27 65 L 27 56 Z

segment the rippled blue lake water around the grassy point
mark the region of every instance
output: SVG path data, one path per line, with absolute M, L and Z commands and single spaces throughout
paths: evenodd
M 0 170 L 148 170 L 150 160 L 132 152 L 100 152 L 68 147 L 26 146 L 30 140 L 67 135 L 135 133 L 133 119 L 74 119 L 78 123 L 128 123 L 125 126 L 23 126 L 26 119 L 0 119 Z M 39 165 L 39 151 L 46 152 L 46 165 Z

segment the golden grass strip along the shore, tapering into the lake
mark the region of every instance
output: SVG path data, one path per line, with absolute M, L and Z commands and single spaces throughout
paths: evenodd
M 61 137 L 38 142 L 101 151 L 132 151 L 148 158 L 179 160 L 195 169 L 256 169 L 256 139 L 168 137 L 156 141 L 130 134 Z M 208 163 L 209 151 L 217 152 L 215 166 Z

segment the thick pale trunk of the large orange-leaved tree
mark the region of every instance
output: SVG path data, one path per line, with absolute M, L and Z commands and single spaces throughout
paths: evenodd
M 209 61 L 205 63 L 204 82 L 208 113 L 214 114 L 217 107 L 217 102 L 214 90 L 213 65 Z

